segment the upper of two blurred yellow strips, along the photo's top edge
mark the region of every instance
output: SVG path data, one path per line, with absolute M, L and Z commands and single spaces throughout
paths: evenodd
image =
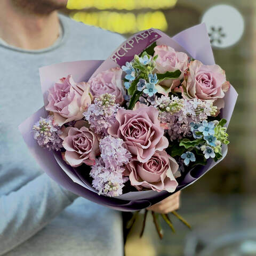
M 173 7 L 177 0 L 68 0 L 68 9 L 89 9 L 99 10 L 117 9 L 167 9 Z

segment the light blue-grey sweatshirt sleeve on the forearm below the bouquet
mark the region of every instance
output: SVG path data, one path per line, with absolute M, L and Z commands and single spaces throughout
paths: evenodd
M 36 234 L 76 197 L 46 174 L 0 196 L 0 255 Z

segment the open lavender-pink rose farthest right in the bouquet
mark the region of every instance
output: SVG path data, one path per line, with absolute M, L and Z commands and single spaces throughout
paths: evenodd
M 214 105 L 222 108 L 223 100 L 220 99 L 229 87 L 225 71 L 220 66 L 203 65 L 201 61 L 194 60 L 189 63 L 189 71 L 182 83 L 182 95 L 186 99 L 211 100 L 215 102 Z

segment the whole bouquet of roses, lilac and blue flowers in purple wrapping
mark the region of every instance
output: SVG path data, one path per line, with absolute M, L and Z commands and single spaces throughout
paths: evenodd
M 237 93 L 204 25 L 173 38 L 140 31 L 106 61 L 51 65 L 40 76 L 45 104 L 20 125 L 23 138 L 51 178 L 93 202 L 145 209 L 227 154 Z

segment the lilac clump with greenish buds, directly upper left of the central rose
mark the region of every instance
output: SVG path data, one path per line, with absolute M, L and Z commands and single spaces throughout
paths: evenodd
M 115 123 L 115 116 L 120 108 L 119 104 L 115 103 L 115 95 L 105 93 L 95 98 L 93 104 L 89 105 L 83 115 L 93 132 L 107 135 L 107 129 Z

